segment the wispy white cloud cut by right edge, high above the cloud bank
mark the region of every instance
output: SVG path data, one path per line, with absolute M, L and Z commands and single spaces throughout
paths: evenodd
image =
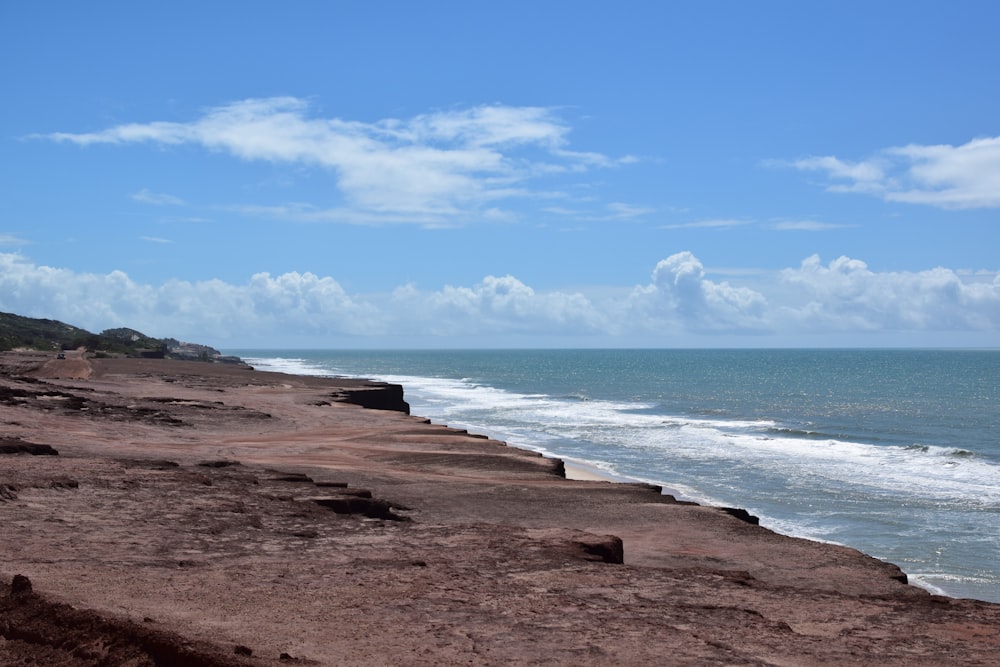
M 940 208 L 1000 206 L 1000 137 L 950 144 L 897 146 L 858 162 L 834 156 L 791 163 L 824 173 L 831 192 L 861 192 L 887 201 Z

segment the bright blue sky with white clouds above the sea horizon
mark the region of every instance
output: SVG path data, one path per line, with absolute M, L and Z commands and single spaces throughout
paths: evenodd
M 1000 347 L 1000 4 L 0 4 L 0 311 Z

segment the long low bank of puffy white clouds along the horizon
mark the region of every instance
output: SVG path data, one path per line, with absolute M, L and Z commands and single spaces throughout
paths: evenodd
M 818 256 L 777 274 L 734 272 L 754 287 L 713 280 L 690 252 L 661 260 L 645 285 L 592 292 L 537 290 L 513 276 L 471 286 L 390 294 L 351 294 L 312 273 L 258 273 L 245 284 L 219 280 L 136 283 L 121 271 L 78 273 L 0 253 L 0 310 L 63 320 L 99 331 L 130 326 L 186 340 L 295 341 L 380 336 L 384 340 L 505 336 L 601 338 L 628 345 L 711 344 L 722 336 L 798 336 L 800 344 L 834 333 L 979 332 L 1000 340 L 1000 271 L 932 268 L 877 272 L 864 262 Z M 734 340 L 746 340 L 745 338 Z M 266 343 L 265 343 L 266 344 Z

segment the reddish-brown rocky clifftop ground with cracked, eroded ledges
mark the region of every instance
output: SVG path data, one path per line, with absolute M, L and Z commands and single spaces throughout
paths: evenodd
M 0 355 L 0 664 L 995 663 L 1000 605 L 403 389 Z

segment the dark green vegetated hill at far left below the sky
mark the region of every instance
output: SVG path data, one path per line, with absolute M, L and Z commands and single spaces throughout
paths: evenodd
M 0 313 L 0 351 L 58 351 L 80 347 L 97 355 L 239 362 L 235 357 L 223 357 L 207 345 L 182 343 L 173 338 L 151 338 L 135 329 L 122 327 L 95 334 L 58 320 Z

